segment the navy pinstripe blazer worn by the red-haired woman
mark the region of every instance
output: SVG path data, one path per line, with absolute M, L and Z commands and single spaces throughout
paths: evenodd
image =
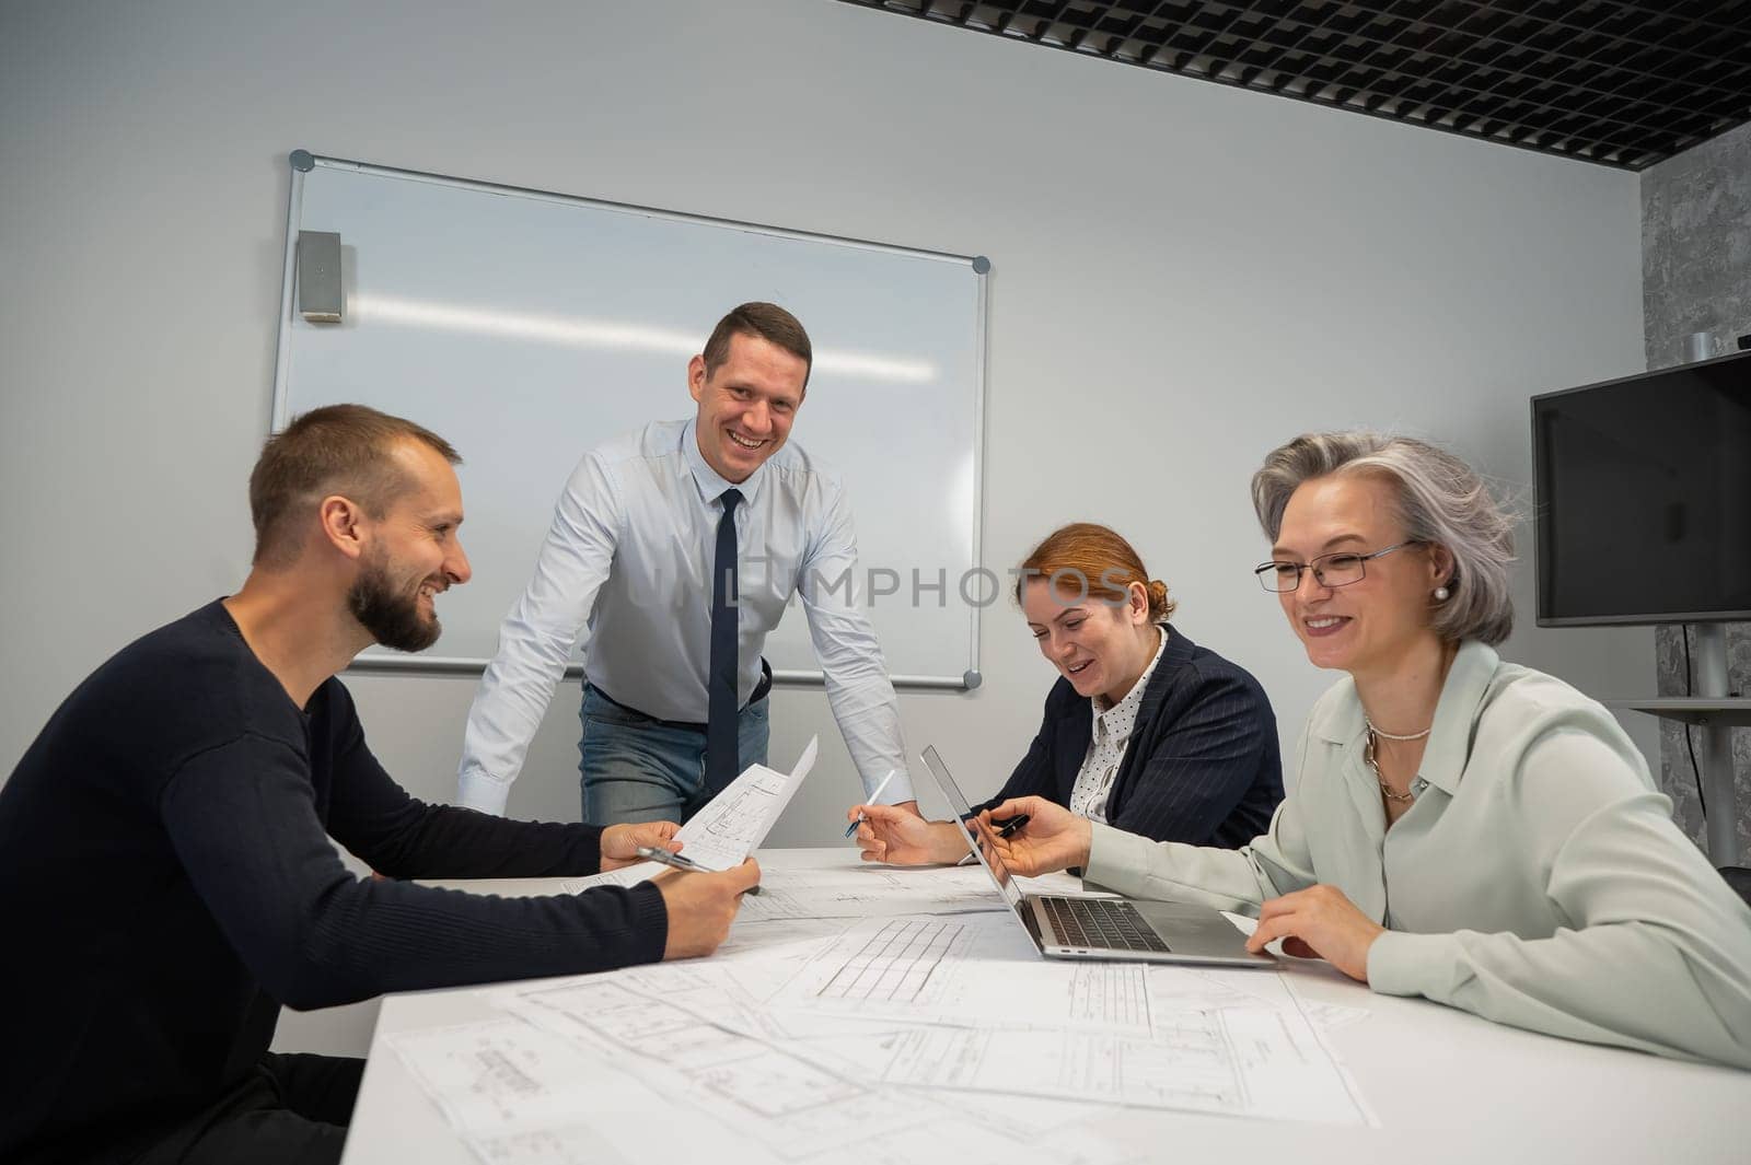
M 1143 689 L 1131 743 L 1107 798 L 1107 822 L 1156 841 L 1240 848 L 1264 833 L 1283 799 L 1276 715 L 1259 680 L 1171 624 Z M 1070 680 L 1045 696 L 1045 717 L 1003 791 L 1070 805 L 1094 708 Z

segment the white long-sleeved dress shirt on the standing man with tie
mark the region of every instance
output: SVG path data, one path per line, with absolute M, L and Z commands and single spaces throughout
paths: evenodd
M 898 770 L 886 803 L 914 798 L 900 703 L 876 631 L 856 605 L 858 549 L 837 478 L 797 444 L 746 481 L 699 451 L 693 422 L 657 422 L 590 450 L 553 509 L 534 577 L 499 628 L 475 693 L 457 801 L 503 813 L 529 742 L 573 651 L 613 700 L 664 721 L 706 722 L 711 562 L 725 490 L 735 511 L 739 701 L 760 682 L 760 651 L 802 596 L 826 698 L 865 791 Z

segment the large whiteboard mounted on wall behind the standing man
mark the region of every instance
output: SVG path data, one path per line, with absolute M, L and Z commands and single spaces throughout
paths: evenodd
M 895 684 L 977 686 L 995 589 L 979 570 L 988 261 L 303 150 L 291 163 L 273 429 L 352 401 L 462 455 L 473 581 L 441 598 L 429 654 L 373 647 L 355 666 L 483 668 L 578 458 L 692 416 L 688 359 L 725 311 L 767 299 L 814 343 L 791 441 L 844 481 Z M 338 324 L 298 310 L 299 231 L 340 234 Z M 819 682 L 800 602 L 765 658 L 779 680 Z

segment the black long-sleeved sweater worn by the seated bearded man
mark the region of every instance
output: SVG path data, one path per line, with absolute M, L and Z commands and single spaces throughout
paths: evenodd
M 595 873 L 601 829 L 424 805 L 338 679 L 299 710 L 221 603 L 123 649 L 0 789 L 0 1160 L 123 1155 L 235 1088 L 278 1006 L 662 957 L 653 885 L 499 899 L 361 880 Z

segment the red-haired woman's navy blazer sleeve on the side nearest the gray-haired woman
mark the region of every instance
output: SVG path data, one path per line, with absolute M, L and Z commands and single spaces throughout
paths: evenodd
M 1184 708 L 1152 738 L 1108 824 L 1156 841 L 1210 845 L 1259 775 L 1276 726 L 1264 694 L 1234 677 L 1199 679 Z M 1254 826 L 1257 827 L 1257 826 Z

